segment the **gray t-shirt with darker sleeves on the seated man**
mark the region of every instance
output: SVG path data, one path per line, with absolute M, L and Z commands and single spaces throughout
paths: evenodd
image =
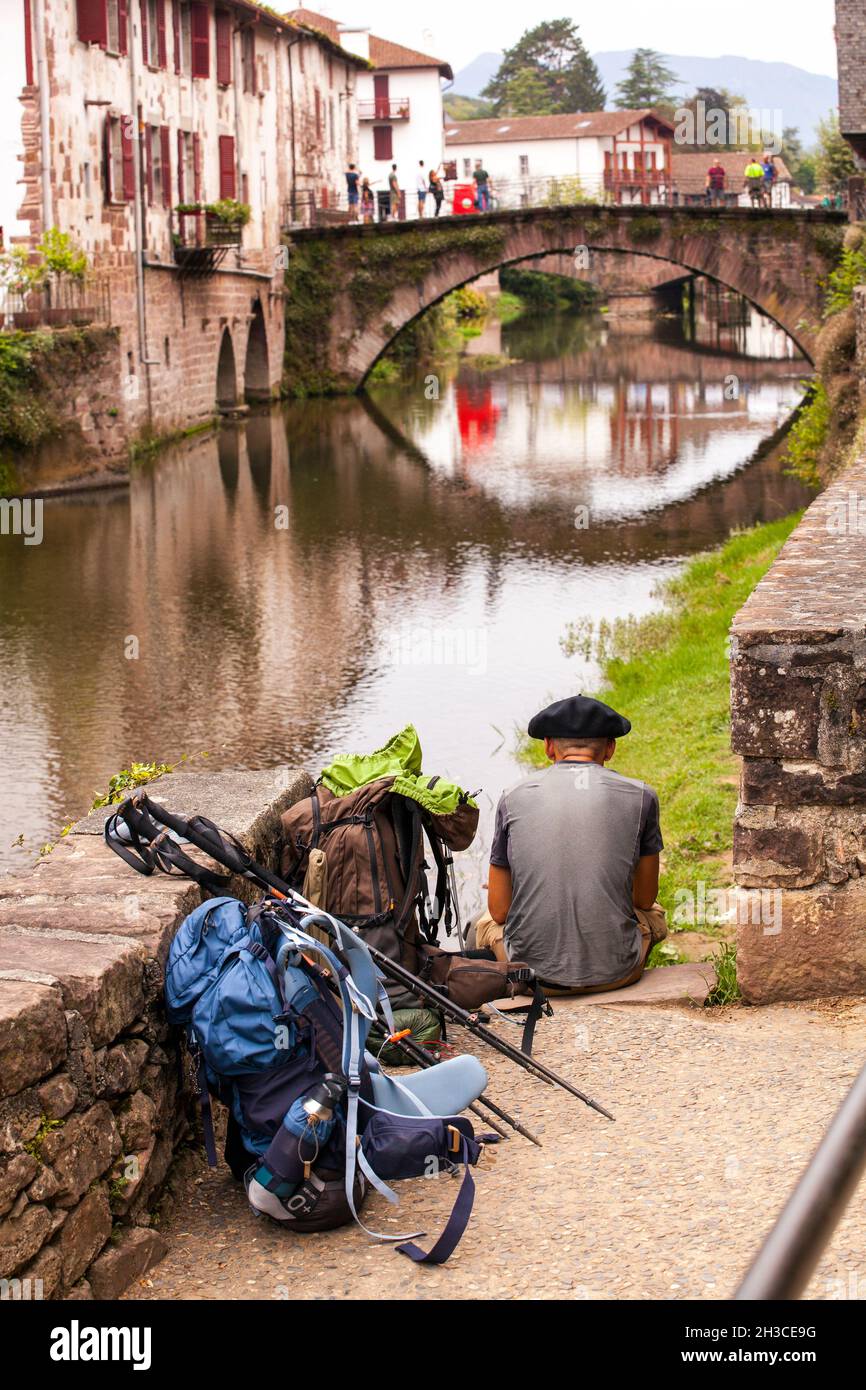
M 601 763 L 553 763 L 503 792 L 491 863 L 512 872 L 510 959 L 571 987 L 628 974 L 641 955 L 634 870 L 660 849 L 652 787 Z

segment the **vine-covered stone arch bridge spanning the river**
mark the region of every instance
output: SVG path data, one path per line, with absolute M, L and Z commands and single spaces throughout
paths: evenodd
M 844 213 L 541 207 L 425 222 L 307 228 L 288 238 L 291 393 L 359 389 L 393 338 L 460 285 L 553 252 L 646 256 L 737 291 L 812 357 Z

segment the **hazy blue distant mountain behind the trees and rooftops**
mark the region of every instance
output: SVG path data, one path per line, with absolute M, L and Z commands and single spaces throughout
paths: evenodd
M 607 92 L 607 106 L 613 106 L 617 83 L 626 75 L 631 60 L 631 49 L 619 53 L 595 53 L 594 58 Z M 452 92 L 460 96 L 480 96 L 496 72 L 502 54 L 480 53 L 478 57 L 455 75 Z M 819 72 L 806 72 L 790 63 L 763 63 L 759 58 L 699 58 L 677 53 L 664 54 L 678 83 L 676 96 L 691 96 L 698 86 L 727 88 L 745 97 L 746 106 L 760 111 L 780 111 L 781 125 L 795 125 L 805 145 L 815 140 L 817 122 L 835 107 L 837 85 L 834 78 Z

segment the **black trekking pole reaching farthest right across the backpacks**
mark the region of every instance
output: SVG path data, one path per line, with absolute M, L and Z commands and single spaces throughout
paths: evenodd
M 118 821 L 126 827 L 129 842 L 125 842 L 122 837 L 118 835 L 117 824 Z M 167 827 L 172 831 L 168 837 L 165 833 L 160 833 L 158 824 Z M 279 878 L 264 865 L 256 863 L 249 851 L 240 841 L 224 831 L 218 826 L 214 826 L 211 820 L 204 816 L 192 816 L 189 820 L 183 820 L 181 816 L 174 816 L 171 812 L 165 810 L 164 806 L 152 802 L 146 792 L 139 791 L 133 796 L 122 802 L 115 815 L 110 816 L 106 821 L 104 828 L 106 844 L 110 849 L 121 856 L 131 867 L 136 869 L 138 873 L 150 874 L 154 869 L 161 869 L 164 873 L 171 873 L 172 869 L 178 869 L 181 873 L 193 878 L 203 885 L 218 888 L 225 888 L 228 885 L 231 874 L 239 874 L 249 883 L 254 883 L 257 887 L 264 888 L 265 892 L 272 894 L 275 898 L 281 898 L 285 902 L 295 903 L 296 906 L 304 908 L 307 912 L 314 913 L 320 922 L 324 924 L 329 935 L 336 937 L 334 926 L 331 926 L 331 917 L 321 908 L 309 902 L 300 892 L 292 888 L 285 880 Z M 217 863 L 228 869 L 229 877 L 225 874 L 214 874 L 204 865 L 196 863 L 183 851 L 179 849 L 177 844 L 177 837 L 189 841 L 203 853 L 209 855 Z M 145 840 L 150 847 L 150 858 L 142 855 L 142 840 Z M 133 852 L 138 851 L 138 855 Z M 138 862 L 136 862 L 138 860 Z M 348 929 L 350 930 L 350 929 Z M 356 930 L 356 935 L 360 931 Z M 441 1013 L 443 1013 L 452 1023 L 459 1023 L 461 1027 L 468 1029 L 474 1037 L 487 1042 L 488 1047 L 493 1048 L 495 1052 L 507 1056 L 510 1062 L 521 1066 L 524 1072 L 530 1076 L 537 1076 L 549 1086 L 559 1086 L 563 1091 L 569 1091 L 575 1099 L 582 1101 L 591 1109 L 598 1111 L 605 1119 L 613 1120 L 610 1111 L 606 1111 L 603 1105 L 594 1101 L 589 1095 L 584 1095 L 582 1091 L 567 1081 L 552 1068 L 545 1066 L 535 1056 L 527 1056 L 518 1048 L 512 1047 L 503 1038 L 496 1037 L 488 1027 L 478 1022 L 475 1013 L 468 1013 L 461 1009 L 459 1004 L 453 1004 L 448 995 L 441 994 L 432 984 L 425 980 L 420 980 L 405 966 L 392 960 L 389 956 L 384 955 L 375 947 L 370 945 L 368 941 L 364 942 L 371 958 L 379 966 L 382 973 L 388 976 L 396 984 L 403 984 L 409 988 L 411 994 L 418 995 L 423 999 L 434 1004 Z

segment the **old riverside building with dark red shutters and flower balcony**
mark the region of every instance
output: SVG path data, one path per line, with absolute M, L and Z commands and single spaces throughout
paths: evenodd
M 274 395 L 282 231 L 357 157 L 366 63 L 247 0 L 22 3 L 19 217 L 107 282 L 126 438 Z

